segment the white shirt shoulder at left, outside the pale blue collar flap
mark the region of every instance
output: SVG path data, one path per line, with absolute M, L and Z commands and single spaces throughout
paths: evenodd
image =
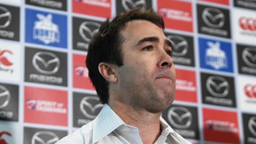
M 92 135 L 93 132 L 93 122 L 94 120 L 80 127 L 70 135 L 61 138 L 61 140 L 55 144 L 89 144 L 90 135 Z

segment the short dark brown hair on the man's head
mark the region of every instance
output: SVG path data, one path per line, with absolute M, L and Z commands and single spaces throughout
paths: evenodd
M 163 18 L 154 10 L 135 8 L 125 13 L 119 13 L 112 19 L 107 18 L 89 43 L 86 66 L 89 70 L 89 78 L 102 103 L 108 103 L 109 84 L 100 74 L 98 65 L 101 62 L 117 66 L 123 65 L 121 51 L 123 37 L 120 31 L 126 26 L 127 22 L 139 19 L 148 20 L 164 29 Z

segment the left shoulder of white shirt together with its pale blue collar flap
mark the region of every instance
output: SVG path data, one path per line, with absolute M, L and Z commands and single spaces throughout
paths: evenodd
M 62 138 L 56 144 L 94 144 L 124 124 L 117 114 L 104 104 L 98 116 L 80 129 Z

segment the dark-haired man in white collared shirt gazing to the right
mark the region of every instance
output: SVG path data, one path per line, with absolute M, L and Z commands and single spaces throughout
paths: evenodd
M 153 10 L 106 20 L 89 44 L 86 65 L 104 107 L 57 144 L 191 144 L 160 117 L 174 100 L 172 44 Z

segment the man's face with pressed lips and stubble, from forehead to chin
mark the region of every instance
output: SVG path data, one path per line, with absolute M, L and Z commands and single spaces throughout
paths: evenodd
M 146 20 L 132 20 L 121 31 L 123 66 L 118 70 L 121 101 L 158 113 L 174 100 L 176 74 L 171 42 Z

